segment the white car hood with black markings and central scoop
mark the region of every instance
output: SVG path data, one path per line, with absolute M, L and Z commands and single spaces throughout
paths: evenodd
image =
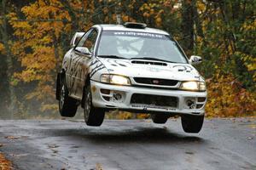
M 150 77 L 179 81 L 203 81 L 192 65 L 144 59 L 98 58 L 110 74 L 126 77 Z M 156 64 L 156 65 L 155 65 Z

